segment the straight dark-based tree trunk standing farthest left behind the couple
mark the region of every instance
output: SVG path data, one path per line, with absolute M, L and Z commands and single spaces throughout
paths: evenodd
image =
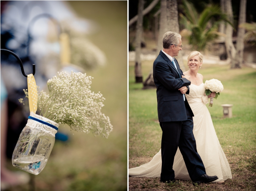
M 143 11 L 144 8 L 144 0 L 139 0 L 138 7 L 138 20 L 136 24 L 136 34 L 135 34 L 135 82 L 142 82 L 142 72 L 141 72 L 141 61 L 140 61 L 140 53 L 141 53 L 141 39 L 143 33 Z

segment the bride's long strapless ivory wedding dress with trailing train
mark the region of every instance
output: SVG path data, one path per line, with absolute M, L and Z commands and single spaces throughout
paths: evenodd
M 204 83 L 199 86 L 192 84 L 189 88 L 189 95 L 185 95 L 195 115 L 193 117 L 193 133 L 196 139 L 197 152 L 202 158 L 206 174 L 209 176 L 218 176 L 219 179 L 214 182 L 223 181 L 228 178 L 231 179 L 232 175 L 228 160 L 220 146 L 212 124 L 210 112 L 203 101 L 208 100 L 207 96 L 204 96 Z M 149 163 L 129 169 L 129 176 L 160 177 L 161 168 L 162 159 L 160 149 Z M 176 180 L 191 180 L 179 148 L 174 157 L 173 170 Z

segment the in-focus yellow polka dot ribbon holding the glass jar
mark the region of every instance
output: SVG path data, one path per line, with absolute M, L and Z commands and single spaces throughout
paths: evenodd
M 33 74 L 28 74 L 28 102 L 30 112 L 36 113 L 37 110 L 37 88 Z

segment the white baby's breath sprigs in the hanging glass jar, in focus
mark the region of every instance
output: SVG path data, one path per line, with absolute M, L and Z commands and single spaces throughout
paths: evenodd
M 83 73 L 58 73 L 47 81 L 49 94 L 38 93 L 40 115 L 59 124 L 67 124 L 75 131 L 108 137 L 113 126 L 101 113 L 105 98 L 90 90 L 92 77 Z M 26 90 L 24 90 L 26 94 Z M 27 97 L 27 94 L 26 94 Z M 23 103 L 23 99 L 19 100 Z

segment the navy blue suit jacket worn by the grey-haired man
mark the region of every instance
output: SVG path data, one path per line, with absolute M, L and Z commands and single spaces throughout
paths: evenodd
M 186 78 L 180 78 L 183 72 L 180 70 L 177 60 L 174 59 L 174 61 L 180 76 L 171 60 L 162 51 L 153 64 L 159 122 L 187 120 L 186 107 L 194 116 L 187 99 L 185 99 L 185 106 L 183 95 L 178 90 L 183 86 L 188 87 L 191 82 Z M 186 94 L 189 94 L 189 87 Z

